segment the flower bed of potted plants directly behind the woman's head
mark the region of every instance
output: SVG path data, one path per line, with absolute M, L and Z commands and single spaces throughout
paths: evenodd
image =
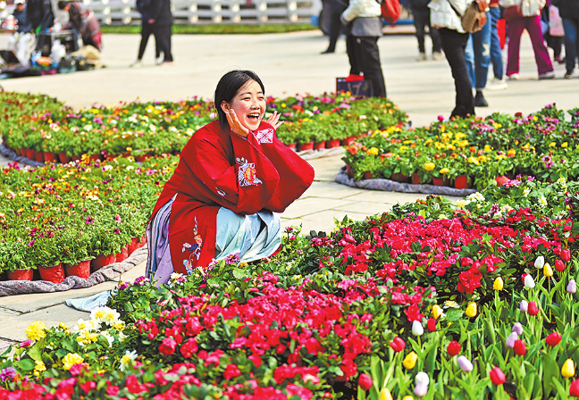
M 81 154 L 101 160 L 132 154 L 138 161 L 152 154 L 178 154 L 197 129 L 216 117 L 213 103 L 197 97 L 80 111 L 48 102 L 46 96 L 5 92 L 0 99 L 9 122 L 1 132 L 4 144 L 39 162 L 69 162 Z M 342 139 L 407 121 L 394 104 L 346 95 L 268 97 L 267 112 L 273 111 L 286 121 L 278 137 L 287 145 L 340 146 Z

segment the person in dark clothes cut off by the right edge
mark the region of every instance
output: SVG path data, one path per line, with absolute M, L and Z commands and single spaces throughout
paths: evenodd
M 573 78 L 579 56 L 579 0 L 551 0 L 559 9 L 565 30 L 565 78 Z

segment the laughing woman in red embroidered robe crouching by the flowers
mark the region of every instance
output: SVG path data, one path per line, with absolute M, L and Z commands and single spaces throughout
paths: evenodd
M 277 212 L 301 196 L 314 169 L 275 135 L 274 112 L 263 121 L 264 84 L 253 71 L 220 79 L 219 119 L 197 130 L 147 227 L 147 276 L 159 284 L 172 272 L 206 270 L 214 260 L 251 262 L 281 245 Z

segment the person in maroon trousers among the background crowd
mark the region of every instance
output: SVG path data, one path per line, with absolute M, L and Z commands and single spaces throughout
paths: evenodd
M 508 21 L 508 79 L 519 78 L 519 52 L 521 35 L 524 29 L 529 32 L 529 37 L 531 37 L 535 63 L 537 63 L 537 69 L 539 70 L 539 79 L 555 78 L 553 64 L 550 61 L 549 51 L 547 46 L 545 46 L 541 32 L 541 10 L 545 6 L 545 0 L 499 0 L 499 5 L 506 9 L 518 7 L 518 10 L 520 10 L 520 13 L 515 18 Z M 505 12 L 505 15 L 510 13 L 508 10 Z

